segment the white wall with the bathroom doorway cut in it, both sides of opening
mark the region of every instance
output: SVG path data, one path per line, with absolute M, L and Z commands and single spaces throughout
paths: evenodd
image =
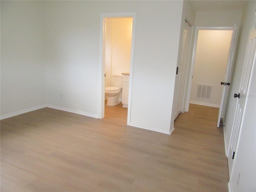
M 130 124 L 170 132 L 182 1 L 44 3 L 47 103 L 99 115 L 100 13 L 136 12 Z

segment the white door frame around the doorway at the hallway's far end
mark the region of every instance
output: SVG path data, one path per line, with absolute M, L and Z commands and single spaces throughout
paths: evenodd
M 232 27 L 202 27 L 202 26 L 196 27 L 194 43 L 193 43 L 191 65 L 190 65 L 190 69 L 188 71 L 188 85 L 187 85 L 186 99 L 185 99 L 185 112 L 188 112 L 188 110 L 189 110 L 190 96 L 191 96 L 191 90 L 192 90 L 192 81 L 193 81 L 192 77 L 193 77 L 193 73 L 194 73 L 196 47 L 197 47 L 199 30 L 234 30 L 234 27 L 233 26 Z

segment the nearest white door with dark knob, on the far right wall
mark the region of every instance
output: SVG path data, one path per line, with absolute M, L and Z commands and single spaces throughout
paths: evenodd
M 256 11 L 255 11 L 256 15 Z M 228 146 L 228 170 L 229 174 L 232 173 L 233 161 L 236 156 L 236 147 L 238 142 L 238 136 L 240 134 L 240 126 L 242 122 L 244 104 L 248 92 L 248 84 L 250 83 L 252 77 L 252 68 L 255 65 L 256 60 L 256 20 L 252 25 L 252 30 L 250 31 L 250 37 L 248 40 L 246 48 L 246 57 L 244 60 L 244 68 L 242 74 L 242 80 L 240 84 L 240 90 L 238 93 L 234 94 L 234 99 L 237 99 L 234 122 L 232 125 L 232 132 L 230 137 L 230 142 Z

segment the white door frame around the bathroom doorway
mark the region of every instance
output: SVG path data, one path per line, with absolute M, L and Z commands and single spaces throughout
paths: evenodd
M 132 74 L 133 74 L 133 60 L 134 60 L 134 41 L 135 41 L 135 25 L 136 25 L 136 13 L 124 12 L 124 13 L 102 13 L 100 14 L 100 76 L 99 76 L 99 111 L 98 116 L 100 119 L 104 118 L 105 113 L 105 34 L 106 34 L 106 18 L 132 18 L 132 45 L 131 45 L 131 60 L 130 60 L 130 82 L 129 82 L 129 99 L 128 99 L 128 113 L 127 124 L 130 124 L 130 108 L 132 103 Z

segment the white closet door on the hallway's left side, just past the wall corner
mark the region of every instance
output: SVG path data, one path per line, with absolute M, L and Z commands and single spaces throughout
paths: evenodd
M 184 20 L 184 30 L 182 38 L 182 52 L 181 60 L 177 65 L 176 71 L 176 108 L 174 119 L 177 118 L 180 112 L 184 112 L 184 101 L 185 101 L 185 91 L 186 91 L 186 77 L 188 68 L 188 52 L 191 36 L 191 26 Z M 183 111 L 182 111 L 183 110 Z

